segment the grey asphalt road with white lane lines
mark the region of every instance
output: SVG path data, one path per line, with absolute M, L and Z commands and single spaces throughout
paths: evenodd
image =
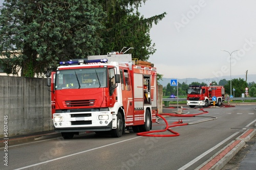
M 183 114 L 196 114 L 196 109 Z M 164 108 L 164 113 L 177 109 Z M 61 137 L 38 139 L 8 148 L 8 166 L 0 169 L 195 169 L 220 149 L 245 132 L 254 129 L 254 105 L 207 108 L 203 116 L 216 120 L 172 128 L 177 137 L 145 137 L 128 132 L 121 138 L 84 133 L 71 140 Z M 166 117 L 168 124 L 181 117 Z M 183 123 L 207 120 L 207 117 L 182 117 Z M 163 120 L 153 129 L 164 129 Z M 160 134 L 170 134 L 169 131 Z M 1 157 L 4 152 L 1 149 Z

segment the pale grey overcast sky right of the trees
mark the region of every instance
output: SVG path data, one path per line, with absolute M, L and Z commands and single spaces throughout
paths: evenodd
M 150 32 L 157 51 L 148 60 L 164 78 L 230 76 L 235 50 L 231 75 L 256 74 L 255 0 L 148 0 L 139 11 L 167 13 Z

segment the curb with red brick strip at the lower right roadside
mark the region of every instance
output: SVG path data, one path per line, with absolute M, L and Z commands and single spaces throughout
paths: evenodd
M 255 134 L 256 129 L 248 129 L 196 169 L 220 170 L 244 147 L 245 142 L 249 141 Z

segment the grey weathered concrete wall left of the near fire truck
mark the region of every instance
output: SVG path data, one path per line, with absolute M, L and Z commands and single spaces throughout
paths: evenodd
M 0 137 L 53 130 L 47 79 L 0 76 Z

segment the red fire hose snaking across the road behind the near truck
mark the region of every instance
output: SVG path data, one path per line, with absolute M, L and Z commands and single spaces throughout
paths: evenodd
M 162 114 L 157 114 L 157 116 L 161 117 L 165 124 L 166 124 L 166 127 L 165 129 L 163 130 L 154 130 L 154 131 L 148 131 L 148 132 L 140 132 L 140 133 L 137 133 L 138 136 L 151 136 L 151 137 L 174 137 L 174 136 L 179 136 L 180 134 L 178 132 L 175 132 L 173 131 L 172 129 L 169 129 L 169 128 L 172 128 L 172 127 L 178 127 L 178 126 L 185 126 L 185 125 L 194 125 L 194 124 L 199 124 L 199 123 L 202 123 L 202 122 L 206 122 L 206 121 L 209 121 L 209 120 L 215 120 L 217 119 L 217 117 L 214 117 L 214 116 L 198 116 L 198 115 L 201 115 L 201 114 L 206 114 L 208 113 L 208 111 L 204 111 L 203 109 L 199 109 L 203 112 L 201 113 L 197 113 L 197 114 L 185 114 L 185 115 L 182 115 L 182 114 L 176 114 L 176 113 L 162 113 Z M 167 120 L 163 117 L 163 115 L 166 115 L 166 116 L 175 116 L 175 117 L 209 117 L 210 119 L 205 119 L 205 120 L 199 120 L 197 122 L 194 122 L 194 123 L 183 123 L 182 120 L 179 120 L 178 122 L 174 122 L 172 123 L 171 125 L 168 125 L 168 122 Z M 169 131 L 173 134 L 166 134 L 166 135 L 163 135 L 163 134 L 152 134 L 152 133 L 159 133 L 159 132 L 165 132 L 165 131 Z

